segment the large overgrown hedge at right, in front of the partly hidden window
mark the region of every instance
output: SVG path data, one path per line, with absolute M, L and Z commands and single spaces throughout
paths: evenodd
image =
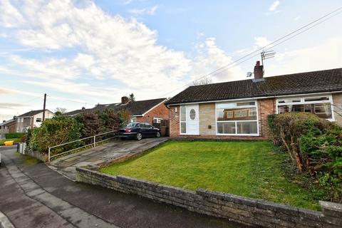
M 331 201 L 342 202 L 341 128 L 311 113 L 272 115 L 269 127 L 298 170 L 315 177 Z

